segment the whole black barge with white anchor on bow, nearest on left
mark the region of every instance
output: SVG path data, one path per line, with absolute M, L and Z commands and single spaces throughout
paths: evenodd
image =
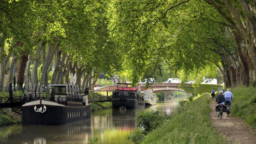
M 37 85 L 35 85 L 37 87 Z M 27 89 L 22 105 L 23 125 L 66 124 L 91 117 L 88 87 L 76 84 L 51 85 L 52 93 L 43 97 L 39 88 Z M 84 93 L 81 93 L 83 89 Z

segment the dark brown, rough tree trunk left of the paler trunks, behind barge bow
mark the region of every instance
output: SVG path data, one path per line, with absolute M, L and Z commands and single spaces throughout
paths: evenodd
M 24 76 L 25 76 L 25 68 L 28 60 L 27 54 L 22 54 L 20 56 L 20 66 L 18 68 L 18 75 L 17 75 L 17 88 L 16 90 L 22 90 L 22 86 L 24 83 Z

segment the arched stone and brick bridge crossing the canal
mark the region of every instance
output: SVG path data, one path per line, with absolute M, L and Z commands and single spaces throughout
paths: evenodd
M 181 83 L 153 83 L 148 88 L 146 87 L 146 83 L 137 84 L 138 90 L 153 90 L 154 93 L 164 92 L 166 95 L 172 93 L 173 91 L 184 91 L 180 88 Z M 99 90 L 116 90 L 117 86 L 121 85 L 108 85 Z M 184 86 L 192 86 L 191 84 L 185 84 Z

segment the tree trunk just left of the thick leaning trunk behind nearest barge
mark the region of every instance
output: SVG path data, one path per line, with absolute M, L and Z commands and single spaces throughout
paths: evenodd
M 34 67 L 33 67 L 33 73 L 32 73 L 32 83 L 38 83 L 37 81 L 37 70 L 38 70 L 38 66 L 40 64 L 40 59 L 41 59 L 41 51 L 44 51 L 45 53 L 45 44 L 46 42 L 43 41 L 42 45 L 39 46 L 37 48 L 36 54 L 35 54 L 35 58 L 34 58 Z M 44 57 L 44 55 L 43 55 Z

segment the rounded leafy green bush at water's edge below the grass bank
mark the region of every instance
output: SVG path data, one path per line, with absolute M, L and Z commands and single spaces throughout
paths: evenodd
M 163 117 L 155 110 L 143 110 L 136 114 L 136 124 L 145 133 L 156 129 L 163 122 Z

